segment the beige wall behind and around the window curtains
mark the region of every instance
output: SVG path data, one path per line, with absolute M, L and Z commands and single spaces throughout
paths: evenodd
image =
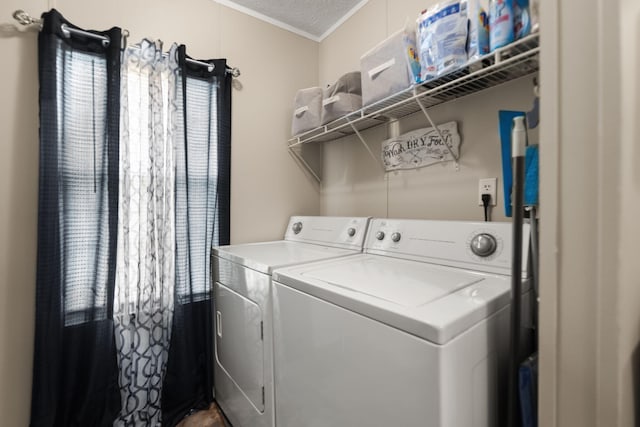
M 54 4 L 55 3 L 55 4 Z M 242 76 L 233 93 L 233 242 L 277 239 L 288 216 L 318 214 L 316 184 L 286 149 L 291 100 L 317 84 L 318 44 L 211 0 L 4 0 L 39 15 L 55 6 L 85 28 L 114 25 L 142 37 L 187 45 L 193 57 L 226 57 Z M 29 420 L 33 352 L 38 189 L 36 34 L 0 37 L 0 414 L 2 425 Z

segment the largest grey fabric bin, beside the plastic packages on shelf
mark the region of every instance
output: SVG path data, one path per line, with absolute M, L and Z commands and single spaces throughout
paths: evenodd
M 362 55 L 360 70 L 363 105 L 411 86 L 420 76 L 415 31 L 402 29 Z

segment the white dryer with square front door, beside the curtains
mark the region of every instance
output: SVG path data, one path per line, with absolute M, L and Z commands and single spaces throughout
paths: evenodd
M 234 427 L 273 427 L 271 274 L 362 252 L 368 218 L 291 217 L 284 240 L 213 250 L 216 401 Z

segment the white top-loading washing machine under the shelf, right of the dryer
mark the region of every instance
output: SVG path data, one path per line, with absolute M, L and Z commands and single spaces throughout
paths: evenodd
M 511 234 L 375 219 L 363 254 L 277 270 L 278 427 L 499 425 Z

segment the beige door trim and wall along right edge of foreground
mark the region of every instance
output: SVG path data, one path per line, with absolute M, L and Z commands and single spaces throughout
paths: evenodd
M 637 425 L 640 6 L 542 5 L 539 423 Z

